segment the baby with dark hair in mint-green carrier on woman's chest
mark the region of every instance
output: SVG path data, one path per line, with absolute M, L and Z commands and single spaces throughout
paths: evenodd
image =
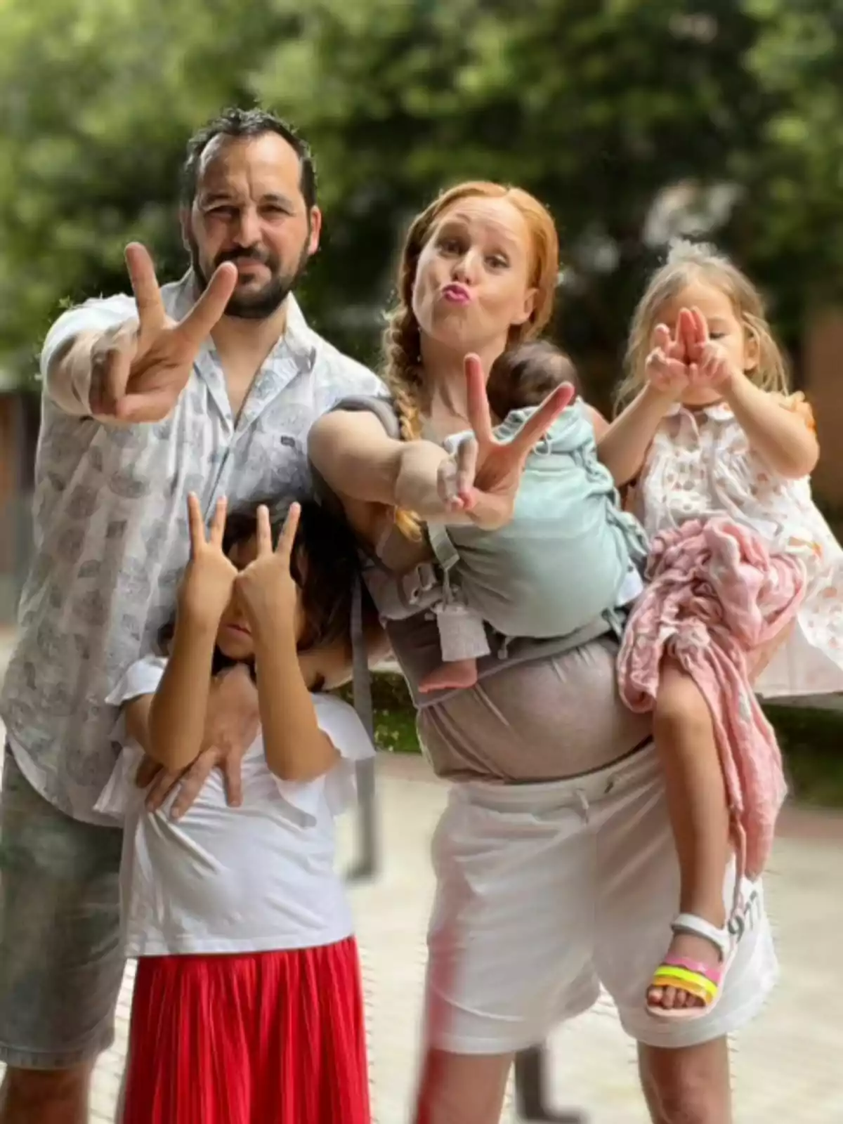
M 489 404 L 501 419 L 498 439 L 511 438 L 562 382 L 575 384 L 575 373 L 552 344 L 504 352 L 488 383 Z M 464 436 L 448 438 L 446 447 L 455 452 Z M 445 580 L 435 607 L 443 662 L 419 685 L 425 692 L 477 682 L 477 660 L 490 651 L 487 627 L 505 637 L 566 636 L 643 588 L 644 533 L 620 509 L 579 398 L 531 453 L 506 527 L 490 534 L 436 524 L 428 534 Z M 584 596 L 573 600 L 569 588 Z

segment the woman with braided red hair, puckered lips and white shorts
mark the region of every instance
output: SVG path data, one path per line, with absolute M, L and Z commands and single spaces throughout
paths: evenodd
M 427 525 L 470 520 L 495 535 L 570 399 L 558 392 L 509 443 L 496 441 L 486 374 L 546 327 L 558 274 L 553 220 L 531 194 L 495 183 L 446 191 L 404 248 L 386 336 L 391 406 L 347 400 L 310 435 L 317 478 L 368 554 L 426 754 L 452 782 L 433 842 L 416 1122 L 493 1124 L 515 1053 L 588 1009 L 602 984 L 638 1043 L 653 1121 L 726 1124 L 726 1036 L 772 987 L 769 926 L 759 889 L 717 1008 L 690 1024 L 647 1015 L 678 865 L 650 722 L 618 697 L 616 632 L 601 617 L 552 640 L 492 635 L 475 686 L 419 691 L 439 660 Z M 466 428 L 474 439 L 443 470 L 442 442 Z

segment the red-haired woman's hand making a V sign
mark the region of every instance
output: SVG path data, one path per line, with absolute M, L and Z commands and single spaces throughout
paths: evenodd
M 464 514 L 478 527 L 495 531 L 513 517 L 524 465 L 575 390 L 570 382 L 556 387 L 511 441 L 500 442 L 492 430 L 483 368 L 477 355 L 465 356 L 468 413 L 472 436 L 465 437 L 439 470 L 439 497 L 448 511 Z

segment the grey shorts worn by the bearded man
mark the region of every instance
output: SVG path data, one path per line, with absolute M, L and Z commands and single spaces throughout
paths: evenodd
M 65 1069 L 114 1040 L 121 832 L 71 819 L 6 746 L 0 797 L 0 1062 Z

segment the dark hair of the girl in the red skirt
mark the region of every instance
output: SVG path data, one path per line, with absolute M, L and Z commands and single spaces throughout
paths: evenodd
M 290 505 L 298 502 L 301 507 L 290 556 L 290 572 L 301 589 L 306 622 L 301 647 L 320 647 L 342 637 L 350 637 L 354 579 L 360 572 L 357 546 L 352 532 L 312 499 L 293 498 L 283 507 L 273 506 L 266 500 L 262 502 L 270 509 L 273 547 L 278 543 Z M 248 508 L 229 513 L 223 536 L 225 554 L 230 554 L 235 546 L 248 542 L 255 534 L 260 506 L 261 502 L 256 502 Z M 158 634 L 158 645 L 163 651 L 174 632 L 173 616 Z M 234 660 L 217 649 L 214 674 L 234 663 Z

